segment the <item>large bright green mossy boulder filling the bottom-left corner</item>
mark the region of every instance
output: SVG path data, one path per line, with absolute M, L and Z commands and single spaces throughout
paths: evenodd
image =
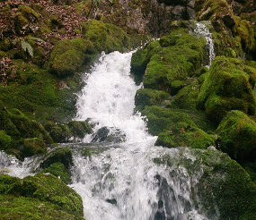
M 50 216 L 50 210 L 53 210 L 53 216 L 58 211 L 62 219 L 65 216 L 67 219 L 83 219 L 81 197 L 51 174 L 38 173 L 22 180 L 2 174 L 0 198 L 4 199 L 0 204 L 0 213 L 4 219 L 40 219 L 43 215 Z M 57 219 L 60 219 L 59 216 Z

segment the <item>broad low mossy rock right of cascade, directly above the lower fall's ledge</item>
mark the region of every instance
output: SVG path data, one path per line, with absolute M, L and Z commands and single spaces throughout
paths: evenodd
M 153 135 L 158 135 L 156 146 L 167 148 L 215 146 L 216 136 L 199 129 L 190 115 L 182 110 L 146 106 L 142 114 L 148 119 L 148 131 Z

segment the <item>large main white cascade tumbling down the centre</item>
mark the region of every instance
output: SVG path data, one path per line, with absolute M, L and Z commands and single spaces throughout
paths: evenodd
M 90 158 L 75 154 L 71 187 L 83 198 L 84 216 L 87 220 L 207 219 L 190 199 L 191 187 L 202 173 L 190 176 L 184 167 L 172 169 L 153 162 L 176 149 L 155 148 L 156 137 L 147 133 L 144 118 L 133 114 L 139 87 L 129 76 L 131 55 L 102 55 L 84 77 L 86 86 L 78 97 L 76 120 L 90 118 L 97 124 L 94 131 L 108 126 L 124 131 L 127 139 L 119 148 Z M 89 136 L 84 142 L 90 140 Z M 169 190 L 163 192 L 166 186 L 161 186 L 157 175 Z M 163 206 L 158 208 L 159 199 Z

